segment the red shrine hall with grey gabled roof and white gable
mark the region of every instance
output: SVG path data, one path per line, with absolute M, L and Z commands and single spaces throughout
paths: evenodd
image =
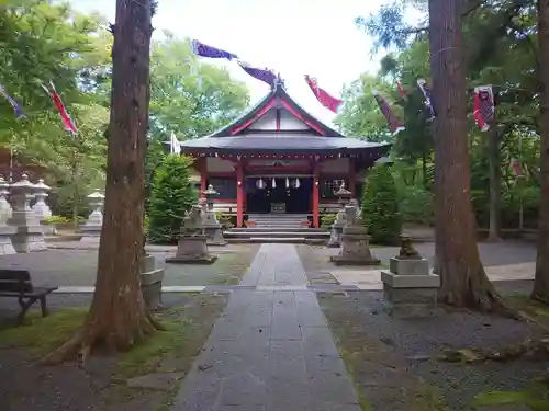
M 181 141 L 181 152 L 197 158 L 200 191 L 212 184 L 215 210 L 237 216 L 307 215 L 337 210 L 341 183 L 356 198 L 366 171 L 390 145 L 345 137 L 293 101 L 278 81 L 255 106 L 214 134 Z

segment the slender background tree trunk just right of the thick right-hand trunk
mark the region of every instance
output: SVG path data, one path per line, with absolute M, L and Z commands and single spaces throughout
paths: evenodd
M 501 203 L 501 163 L 500 163 L 500 133 L 494 121 L 488 135 L 488 160 L 490 169 L 490 229 L 489 241 L 501 241 L 500 238 L 500 203 Z

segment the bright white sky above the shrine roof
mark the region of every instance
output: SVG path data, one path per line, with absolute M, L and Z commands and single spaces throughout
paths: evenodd
M 114 22 L 115 0 L 70 2 L 79 11 L 99 11 Z M 159 0 L 153 26 L 156 35 L 168 30 L 178 37 L 199 39 L 251 65 L 280 72 L 289 94 L 329 125 L 335 115 L 316 101 L 303 76 L 316 78 L 321 88 L 340 96 L 344 84 L 362 72 L 374 73 L 379 58 L 371 57 L 371 39 L 356 26 L 355 19 L 376 12 L 384 2 Z M 246 82 L 251 104 L 269 91 L 268 85 L 249 77 L 236 62 L 223 64 L 228 65 L 232 77 Z

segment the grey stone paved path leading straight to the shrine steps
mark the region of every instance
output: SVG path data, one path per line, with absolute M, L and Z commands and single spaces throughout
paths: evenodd
M 171 411 L 360 411 L 294 246 L 262 244 L 240 284 Z

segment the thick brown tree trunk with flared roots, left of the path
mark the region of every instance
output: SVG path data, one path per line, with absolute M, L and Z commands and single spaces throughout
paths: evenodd
M 139 284 L 150 13 L 149 0 L 116 1 L 107 195 L 96 292 L 82 331 L 46 358 L 48 362 L 75 352 L 85 361 L 99 342 L 127 350 L 157 326 L 146 310 Z

